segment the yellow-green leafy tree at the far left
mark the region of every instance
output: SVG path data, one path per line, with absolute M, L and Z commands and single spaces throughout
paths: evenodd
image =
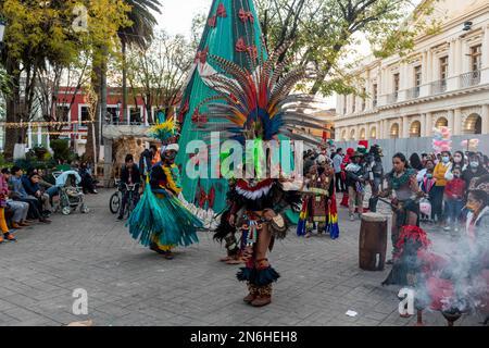
M 80 13 L 76 7 L 85 5 L 87 23 L 77 30 Z M 13 89 L 7 99 L 7 121 L 28 121 L 34 116 L 38 76 L 47 66 L 68 66 L 82 52 L 90 52 L 93 66 L 100 66 L 102 52 L 115 52 L 114 38 L 121 27 L 129 24 L 126 13 L 130 9 L 123 0 L 64 0 L 23 1 L 0 0 L 0 11 L 7 18 L 5 48 L 2 50 Z M 83 14 L 83 13 L 82 13 Z M 5 152 L 24 134 L 18 129 L 5 133 Z

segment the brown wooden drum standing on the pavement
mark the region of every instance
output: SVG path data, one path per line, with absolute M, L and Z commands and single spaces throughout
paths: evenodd
M 362 214 L 360 226 L 359 263 L 365 271 L 383 271 L 387 251 L 387 216 Z

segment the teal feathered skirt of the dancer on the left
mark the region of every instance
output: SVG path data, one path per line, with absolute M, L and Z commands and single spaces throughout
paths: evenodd
M 134 239 L 143 246 L 187 247 L 198 243 L 197 229 L 203 226 L 178 198 L 166 190 L 152 190 L 147 184 L 145 194 L 126 223 Z

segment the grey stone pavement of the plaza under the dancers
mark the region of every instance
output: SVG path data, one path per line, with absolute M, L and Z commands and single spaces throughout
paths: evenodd
M 88 196 L 89 214 L 54 215 L 51 225 L 18 232 L 0 246 L 0 325 L 62 325 L 92 319 L 95 325 L 412 325 L 398 313 L 399 287 L 381 287 L 389 270 L 358 266 L 359 221 L 340 209 L 340 238 L 277 241 L 272 264 L 281 274 L 273 303 L 244 302 L 238 266 L 218 262 L 223 248 L 210 233 L 178 248 L 174 260 L 141 247 L 109 211 L 113 190 Z M 442 237 L 440 233 L 439 236 Z M 390 246 L 389 246 L 390 250 Z M 88 315 L 72 312 L 76 288 L 88 291 Z M 356 311 L 355 318 L 346 315 Z M 428 325 L 446 325 L 425 312 Z M 463 316 L 455 325 L 478 325 Z

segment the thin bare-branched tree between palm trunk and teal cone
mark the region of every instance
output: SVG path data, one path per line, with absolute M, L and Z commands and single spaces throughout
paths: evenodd
M 129 53 L 128 80 L 133 97 L 142 97 L 149 116 L 154 104 L 167 116 L 174 112 L 192 62 L 191 45 L 180 35 L 172 37 L 164 32 L 159 33 L 147 49 Z

